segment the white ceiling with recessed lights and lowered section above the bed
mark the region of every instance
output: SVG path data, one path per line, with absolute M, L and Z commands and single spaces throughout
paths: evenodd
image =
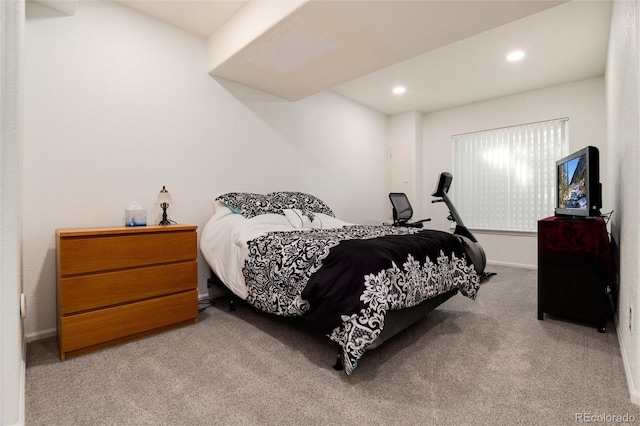
M 283 1 L 293 0 L 260 0 L 263 7 Z M 300 6 L 292 13 L 207 71 L 289 100 L 333 90 L 396 114 L 451 108 L 605 70 L 609 0 L 295 1 Z M 243 8 L 251 3 L 119 2 L 218 42 L 228 23 L 242 29 Z M 246 25 L 245 34 L 255 31 L 255 22 Z M 525 58 L 507 62 L 514 49 Z M 393 95 L 399 84 L 406 93 Z

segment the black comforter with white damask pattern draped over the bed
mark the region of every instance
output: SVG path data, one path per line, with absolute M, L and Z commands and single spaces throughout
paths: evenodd
M 272 216 L 229 221 L 244 230 L 251 221 L 280 220 Z M 236 294 L 265 312 L 307 319 L 342 347 L 347 374 L 381 333 L 387 311 L 453 289 L 475 299 L 479 287 L 462 245 L 446 232 L 364 225 L 295 230 L 270 223 L 259 232 L 230 235 L 242 271 L 235 278 L 246 285 Z M 220 276 L 202 242 L 201 249 Z M 235 261 L 231 257 L 226 266 Z

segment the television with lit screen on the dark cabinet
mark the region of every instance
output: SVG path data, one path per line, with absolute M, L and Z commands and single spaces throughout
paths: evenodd
M 556 161 L 556 216 L 600 216 L 599 157 L 598 148 L 588 146 Z

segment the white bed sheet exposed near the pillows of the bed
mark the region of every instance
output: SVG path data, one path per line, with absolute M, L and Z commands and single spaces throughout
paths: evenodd
M 340 228 L 352 223 L 321 213 L 322 228 Z M 246 219 L 233 213 L 228 207 L 218 207 L 200 235 L 200 251 L 209 267 L 236 296 L 247 298 L 247 285 L 242 267 L 248 256 L 247 243 L 268 232 L 301 231 L 311 228 L 295 228 L 286 216 L 262 214 Z

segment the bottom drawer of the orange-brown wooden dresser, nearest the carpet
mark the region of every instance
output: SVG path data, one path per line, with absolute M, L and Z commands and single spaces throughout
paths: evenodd
M 62 317 L 64 333 L 59 335 L 60 353 L 104 344 L 198 315 L 198 293 L 186 293 Z

